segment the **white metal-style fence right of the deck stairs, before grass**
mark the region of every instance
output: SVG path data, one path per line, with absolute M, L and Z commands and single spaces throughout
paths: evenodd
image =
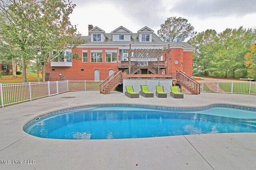
M 199 82 L 201 92 L 256 95 L 256 82 Z M 182 88 L 182 92 L 188 92 Z

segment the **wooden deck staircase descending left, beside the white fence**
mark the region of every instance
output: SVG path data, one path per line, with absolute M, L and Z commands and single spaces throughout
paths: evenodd
M 121 83 L 122 80 L 122 71 L 118 73 L 115 71 L 112 75 L 110 75 L 104 82 L 100 84 L 100 93 L 109 94 L 118 84 Z

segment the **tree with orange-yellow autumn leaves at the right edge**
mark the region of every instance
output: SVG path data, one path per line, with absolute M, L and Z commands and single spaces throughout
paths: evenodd
M 245 55 L 245 66 L 248 68 L 250 78 L 256 79 L 256 44 L 250 48 L 250 53 Z

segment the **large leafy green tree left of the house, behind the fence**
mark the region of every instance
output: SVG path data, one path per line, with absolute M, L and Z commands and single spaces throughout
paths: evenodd
M 26 82 L 27 61 L 35 59 L 38 65 L 42 63 L 45 75 L 48 62 L 60 57 L 65 49 L 84 43 L 76 33 L 76 26 L 69 21 L 76 6 L 70 0 L 0 0 L 0 3 L 4 18 L 0 22 L 0 35 L 6 44 L 19 49 L 23 82 Z M 70 57 L 78 58 L 78 54 Z

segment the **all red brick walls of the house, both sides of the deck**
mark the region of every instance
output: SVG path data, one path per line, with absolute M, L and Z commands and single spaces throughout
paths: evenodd
M 88 63 L 82 63 L 82 51 L 88 51 Z M 91 63 L 90 51 L 102 51 L 102 63 Z M 94 80 L 94 70 L 100 71 L 100 80 L 108 78 L 108 71 L 110 69 L 116 71 L 117 63 L 106 63 L 105 50 L 117 51 L 118 48 L 76 48 L 72 49 L 72 53 L 78 53 L 81 60 L 72 59 L 72 67 L 55 66 L 51 67 L 50 63 L 47 64 L 46 72 L 51 72 L 50 81 L 60 80 L 59 74 L 63 74 L 64 78 L 68 80 Z M 118 54 L 117 54 L 118 55 Z M 169 61 L 169 73 L 181 70 L 192 76 L 193 52 L 184 52 L 182 48 L 172 48 L 170 52 L 171 61 Z M 167 54 L 163 56 L 163 60 L 167 61 Z M 174 61 L 177 60 L 178 64 Z M 182 63 L 182 66 L 181 66 Z M 55 69 L 55 71 L 52 71 Z M 84 69 L 84 71 L 81 71 Z M 167 74 L 167 69 L 164 69 Z

